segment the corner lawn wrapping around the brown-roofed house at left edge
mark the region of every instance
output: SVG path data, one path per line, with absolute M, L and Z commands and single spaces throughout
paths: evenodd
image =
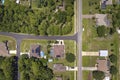
M 0 42 L 8 40 L 8 47 L 10 50 L 15 50 L 16 41 L 12 37 L 0 35 Z

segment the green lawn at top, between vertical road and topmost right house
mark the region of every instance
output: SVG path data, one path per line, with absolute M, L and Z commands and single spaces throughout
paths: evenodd
M 92 5 L 90 5 L 90 2 Z M 99 13 L 100 0 L 83 0 L 83 14 Z

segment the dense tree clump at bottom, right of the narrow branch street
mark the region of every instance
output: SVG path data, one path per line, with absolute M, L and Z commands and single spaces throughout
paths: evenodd
M 19 59 L 20 80 L 51 80 L 53 71 L 48 68 L 47 60 L 22 55 Z

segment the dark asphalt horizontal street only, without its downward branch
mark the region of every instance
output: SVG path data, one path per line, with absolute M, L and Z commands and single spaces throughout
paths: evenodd
M 75 40 L 77 41 L 77 34 L 73 36 L 35 36 L 30 34 L 16 34 L 16 33 L 8 33 L 8 32 L 0 32 L 0 35 L 10 36 L 15 38 L 16 40 L 23 39 L 46 39 L 46 40 Z

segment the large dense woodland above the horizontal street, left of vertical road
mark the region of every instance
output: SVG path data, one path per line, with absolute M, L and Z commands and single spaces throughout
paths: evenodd
M 0 7 L 0 31 L 35 35 L 64 35 L 73 29 L 74 0 L 65 0 L 65 10 L 55 13 L 57 0 L 42 1 L 39 9 L 16 4 L 10 0 Z

